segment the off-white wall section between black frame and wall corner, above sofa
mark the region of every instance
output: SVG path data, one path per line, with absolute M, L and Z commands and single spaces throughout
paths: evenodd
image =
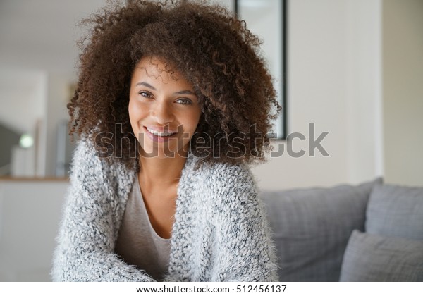
M 253 168 L 266 190 L 359 183 L 383 173 L 381 161 L 381 1 L 288 1 L 288 133 L 300 158 Z M 329 154 L 310 156 L 309 123 Z

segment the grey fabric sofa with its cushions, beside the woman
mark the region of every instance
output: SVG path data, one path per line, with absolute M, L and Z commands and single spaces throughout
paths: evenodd
M 281 281 L 423 281 L 423 187 L 262 192 Z

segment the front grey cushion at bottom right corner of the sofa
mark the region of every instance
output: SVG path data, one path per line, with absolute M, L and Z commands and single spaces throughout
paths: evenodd
M 423 241 L 354 230 L 341 269 L 341 281 L 423 281 Z

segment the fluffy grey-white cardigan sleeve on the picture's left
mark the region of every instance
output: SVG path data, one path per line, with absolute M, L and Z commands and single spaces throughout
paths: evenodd
M 110 177 L 110 166 L 94 154 L 89 141 L 80 141 L 51 276 L 55 281 L 153 281 L 114 254 L 118 201 L 112 184 L 116 178 Z

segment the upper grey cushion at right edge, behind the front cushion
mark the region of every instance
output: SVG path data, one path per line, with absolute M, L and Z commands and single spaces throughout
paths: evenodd
M 366 216 L 367 233 L 423 240 L 423 187 L 375 185 Z

